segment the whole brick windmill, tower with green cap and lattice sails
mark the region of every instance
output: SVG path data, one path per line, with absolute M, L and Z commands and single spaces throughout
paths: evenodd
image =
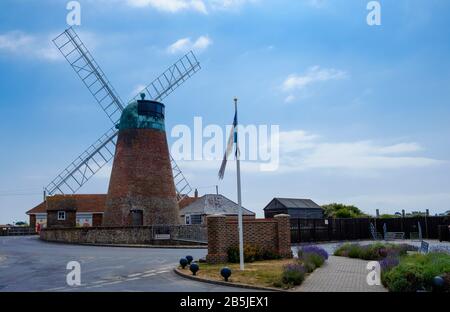
M 200 70 L 191 52 L 124 105 L 73 28 L 53 42 L 113 123 L 45 188 L 47 195 L 76 193 L 112 158 L 103 224 L 177 224 L 178 202 L 192 188 L 170 156 L 160 102 Z

